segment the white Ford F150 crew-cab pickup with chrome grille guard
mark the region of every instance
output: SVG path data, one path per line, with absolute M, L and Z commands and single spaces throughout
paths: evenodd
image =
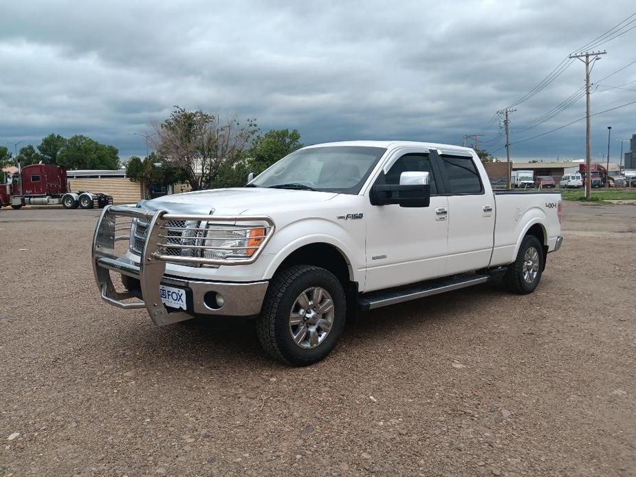
M 245 188 L 108 206 L 92 261 L 110 304 L 145 308 L 157 325 L 254 316 L 265 351 L 303 366 L 360 309 L 499 277 L 531 293 L 560 221 L 559 194 L 493 192 L 470 148 L 336 142 Z

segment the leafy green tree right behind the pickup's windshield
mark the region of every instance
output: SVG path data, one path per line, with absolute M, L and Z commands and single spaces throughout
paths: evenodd
M 297 129 L 272 129 L 263 135 L 258 135 L 248 151 L 250 166 L 254 174 L 260 174 L 286 155 L 303 147 L 300 143 L 300 133 Z

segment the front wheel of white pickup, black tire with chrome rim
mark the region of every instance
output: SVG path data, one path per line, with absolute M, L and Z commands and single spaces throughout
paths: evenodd
M 259 340 L 275 359 L 307 366 L 336 345 L 347 314 L 340 280 L 330 271 L 294 265 L 278 272 L 267 288 L 257 322 Z

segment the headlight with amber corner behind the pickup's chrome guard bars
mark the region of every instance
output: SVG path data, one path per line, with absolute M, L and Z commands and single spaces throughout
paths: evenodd
M 208 225 L 204 239 L 204 258 L 248 258 L 256 252 L 265 240 L 264 227 L 243 227 L 237 225 Z

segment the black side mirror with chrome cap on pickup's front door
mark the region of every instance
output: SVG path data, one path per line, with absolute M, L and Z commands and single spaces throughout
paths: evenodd
M 399 185 L 376 184 L 371 188 L 371 205 L 428 207 L 430 205 L 429 173 L 408 171 L 399 176 Z

